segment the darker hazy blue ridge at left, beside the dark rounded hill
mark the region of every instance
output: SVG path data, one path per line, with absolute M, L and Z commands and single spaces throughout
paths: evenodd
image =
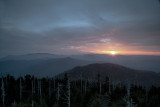
M 75 66 L 92 62 L 73 58 L 36 59 L 36 60 L 6 60 L 0 61 L 0 72 L 14 76 L 31 74 L 38 77 L 55 76 Z

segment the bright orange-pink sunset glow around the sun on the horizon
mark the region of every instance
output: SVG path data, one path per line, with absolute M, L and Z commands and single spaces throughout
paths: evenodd
M 160 56 L 160 51 L 141 50 L 136 46 L 129 46 L 120 43 L 102 43 L 102 44 L 88 44 L 87 46 L 71 47 L 81 53 L 93 53 L 93 54 L 108 54 L 112 56 L 116 55 L 157 55 Z

